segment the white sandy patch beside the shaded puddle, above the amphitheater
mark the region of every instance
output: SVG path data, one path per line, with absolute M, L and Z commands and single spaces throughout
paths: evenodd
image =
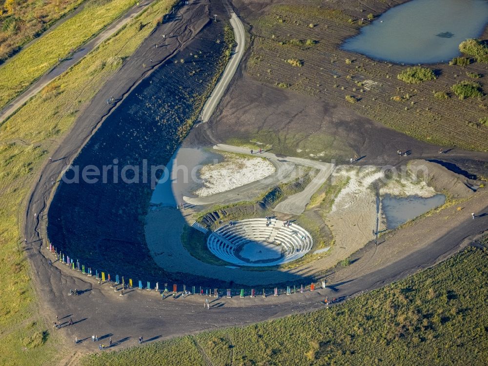
M 275 171 L 274 165 L 262 158 L 244 158 L 231 154 L 224 156 L 224 162 L 204 165 L 200 169 L 203 187 L 195 191 L 197 196 L 207 197 L 225 192 L 259 181 Z

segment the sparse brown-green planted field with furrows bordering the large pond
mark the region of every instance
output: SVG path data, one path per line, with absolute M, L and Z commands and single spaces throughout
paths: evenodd
M 396 4 L 371 0 L 367 7 L 381 13 Z M 480 116 L 488 117 L 488 89 L 486 76 L 482 76 L 486 74 L 485 63 L 472 59 L 469 64 L 431 65 L 435 75 L 413 67 L 410 71 L 421 72 L 405 79 L 407 66 L 340 49 L 343 41 L 363 26 L 356 19 L 365 17 L 358 9 L 366 5 L 341 1 L 330 6 L 338 9 L 275 5 L 267 15 L 256 15 L 250 20 L 255 37 L 246 66 L 248 73 L 260 82 L 346 106 L 416 139 L 488 150 L 488 127 L 479 122 Z M 289 59 L 301 60 L 303 65 L 295 67 L 285 62 Z M 466 79 L 467 73 L 480 75 L 476 81 L 479 92 L 460 100 L 451 87 Z M 397 75 L 419 83 L 407 84 Z

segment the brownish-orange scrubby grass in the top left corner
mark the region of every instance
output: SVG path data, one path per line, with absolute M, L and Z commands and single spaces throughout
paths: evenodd
M 84 0 L 5 0 L 0 5 L 0 63 Z

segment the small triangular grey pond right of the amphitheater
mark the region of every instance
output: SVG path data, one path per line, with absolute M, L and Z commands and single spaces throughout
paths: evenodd
M 386 217 L 386 228 L 397 228 L 401 224 L 405 224 L 407 221 L 430 211 L 432 208 L 443 205 L 445 202 L 446 196 L 443 194 L 436 194 L 429 198 L 386 195 L 381 200 L 383 213 Z

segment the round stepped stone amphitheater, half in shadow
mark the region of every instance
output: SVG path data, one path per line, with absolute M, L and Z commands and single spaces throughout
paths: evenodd
M 220 259 L 237 265 L 269 266 L 303 257 L 312 248 L 310 234 L 297 224 L 277 219 L 230 222 L 215 230 L 208 249 Z

